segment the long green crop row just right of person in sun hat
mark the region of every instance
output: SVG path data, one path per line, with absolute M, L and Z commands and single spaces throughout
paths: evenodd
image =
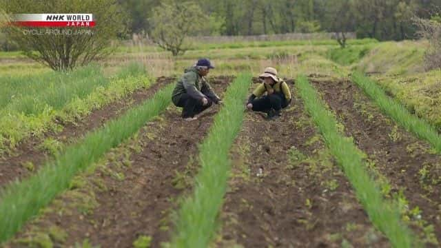
M 305 103 L 307 112 L 318 126 L 325 141 L 355 189 L 356 196 L 375 225 L 390 240 L 393 247 L 413 247 L 414 235 L 400 220 L 396 203 L 382 198 L 382 193 L 369 176 L 363 163 L 362 152 L 353 144 L 352 138 L 338 132 L 334 115 L 325 108 L 314 87 L 305 76 L 299 76 L 296 87 Z

